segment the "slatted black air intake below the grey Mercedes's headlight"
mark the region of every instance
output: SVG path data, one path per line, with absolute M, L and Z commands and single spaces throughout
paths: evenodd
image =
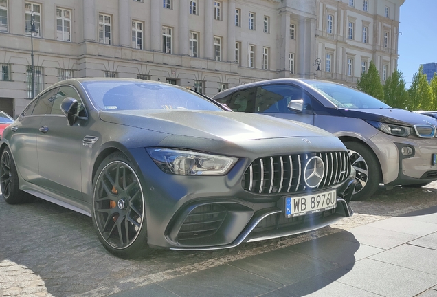
M 178 241 L 211 236 L 219 230 L 226 214 L 227 209 L 220 204 L 197 206 L 183 222 L 177 236 Z

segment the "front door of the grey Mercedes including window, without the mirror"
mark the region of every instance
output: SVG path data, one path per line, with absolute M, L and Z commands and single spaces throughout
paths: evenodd
M 80 117 L 68 126 L 60 110 L 60 103 L 67 97 L 78 100 Z M 76 89 L 61 86 L 52 100 L 52 108 L 39 123 L 38 166 L 42 186 L 74 199 L 82 199 L 82 174 L 80 147 L 85 137 L 86 111 Z

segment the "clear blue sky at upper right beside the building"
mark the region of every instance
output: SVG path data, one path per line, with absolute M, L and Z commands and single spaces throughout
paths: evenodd
M 406 87 L 421 64 L 437 63 L 437 0 L 405 0 L 399 14 L 398 69 Z

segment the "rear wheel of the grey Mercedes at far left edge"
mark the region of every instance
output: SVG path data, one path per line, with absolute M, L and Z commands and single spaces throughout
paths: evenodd
M 20 182 L 12 153 L 8 146 L 1 153 L 0 188 L 5 201 L 9 204 L 27 203 L 34 197 L 20 190 Z

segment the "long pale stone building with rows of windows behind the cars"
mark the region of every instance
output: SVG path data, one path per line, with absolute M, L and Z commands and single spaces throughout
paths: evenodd
M 0 0 L 0 109 L 58 80 L 159 80 L 213 96 L 271 78 L 355 85 L 397 66 L 405 0 Z M 32 24 L 34 32 L 31 31 Z

